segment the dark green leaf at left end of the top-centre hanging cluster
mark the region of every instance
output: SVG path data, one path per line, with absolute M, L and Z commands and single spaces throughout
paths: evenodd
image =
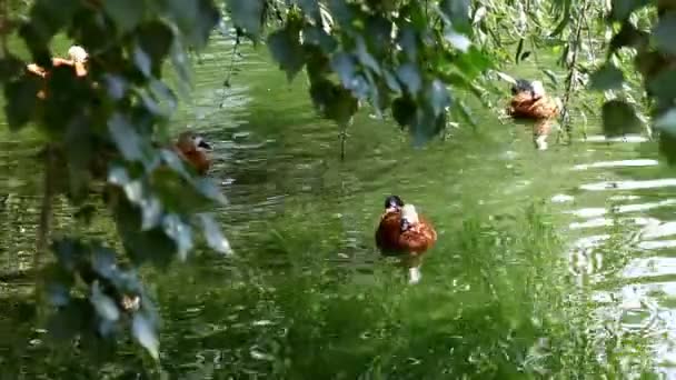
M 272 58 L 287 72 L 291 81 L 305 64 L 305 54 L 300 46 L 300 34 L 296 29 L 280 29 L 268 37 L 268 48 Z

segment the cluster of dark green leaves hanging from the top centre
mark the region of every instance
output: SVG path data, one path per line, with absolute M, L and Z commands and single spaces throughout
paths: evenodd
M 228 4 L 235 23 L 245 27 L 246 21 L 245 29 L 258 34 L 256 3 Z M 428 141 L 446 123 L 450 96 L 449 83 L 443 79 L 447 72 L 457 69 L 474 79 L 491 63 L 463 34 L 470 33 L 469 1 L 441 1 L 437 8 L 422 2 L 360 7 L 335 0 L 328 1 L 328 19 L 318 2 L 295 4 L 285 9 L 279 20 L 282 27 L 270 32 L 268 48 L 289 79 L 307 64 L 315 106 L 339 124 L 352 118 L 358 104 L 368 102 L 378 114 L 391 108 L 395 120 L 409 129 L 416 143 Z M 266 9 L 256 9 L 265 19 Z M 384 12 L 394 9 L 399 12 Z M 392 98 L 399 96 L 414 107 L 396 109 Z

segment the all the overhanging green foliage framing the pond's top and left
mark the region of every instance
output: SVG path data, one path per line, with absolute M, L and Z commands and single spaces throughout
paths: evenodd
M 676 54 L 675 10 L 662 2 L 655 22 L 629 22 L 633 13 L 655 3 L 615 0 L 604 9 L 590 0 L 556 0 L 543 9 L 521 3 L 497 9 L 469 0 L 226 0 L 222 6 L 237 43 L 242 37 L 265 41 L 289 80 L 305 69 L 310 98 L 324 117 L 345 128 L 369 104 L 378 114 L 389 111 L 419 146 L 444 131 L 449 119 L 475 123 L 463 96 L 488 104 L 485 96 L 500 88 L 486 74 L 503 59 L 534 60 L 538 49 L 549 46 L 563 47 L 560 62 L 569 70 L 566 98 L 587 79 L 590 88 L 604 91 L 636 83 L 613 61 L 624 48 L 636 49 L 636 68 L 655 100 L 655 114 L 664 116 L 676 98 L 670 58 Z M 113 252 L 78 237 L 54 244 L 58 262 L 46 290 L 56 309 L 51 327 L 60 338 L 87 331 L 113 337 L 128 327 L 157 358 L 158 319 L 146 309 L 151 303 L 133 269 L 145 262 L 167 268 L 176 257 L 186 259 L 201 238 L 212 249 L 230 252 L 218 223 L 205 213 L 225 203 L 220 189 L 161 148 L 178 103 L 177 91 L 162 81 L 162 69 L 171 63 L 179 91 L 189 88 L 188 51 L 208 43 L 221 21 L 220 6 L 212 0 L 36 0 L 26 20 L 11 20 L 16 26 L 8 31 L 17 32 L 31 61 L 50 74 L 26 73 L 18 52 L 2 47 L 0 82 L 9 128 L 30 126 L 44 137 L 47 178 L 57 179 L 46 186 L 46 199 L 68 196 L 82 207 L 82 220 L 88 202 L 103 199 L 123 248 Z M 530 20 L 534 31 L 515 26 L 515 13 Z M 583 26 L 604 18 L 620 28 L 607 41 L 608 62 L 586 77 L 592 69 L 578 57 Z M 52 68 L 50 42 L 59 33 L 90 51 L 87 77 L 76 78 L 68 67 Z M 516 51 L 507 51 L 513 44 Z M 544 72 L 557 83 L 551 71 Z M 481 81 L 489 83 L 483 87 Z M 37 97 L 40 91 L 44 99 Z M 638 102 L 627 94 L 603 106 L 604 131 L 637 131 Z M 664 131 L 660 149 L 674 161 L 673 136 L 668 128 Z M 118 259 L 131 269 L 119 269 Z M 136 311 L 119 304 L 128 292 L 141 296 Z

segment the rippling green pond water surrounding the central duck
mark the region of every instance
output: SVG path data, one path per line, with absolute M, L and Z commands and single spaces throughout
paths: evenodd
M 158 367 L 125 343 L 97 362 L 36 326 L 23 273 L 37 142 L 0 129 L 2 378 L 675 376 L 676 179 L 649 161 L 653 143 L 599 141 L 592 123 L 588 141 L 550 139 L 540 152 L 527 127 L 478 109 L 476 130 L 412 149 L 365 110 L 341 162 L 339 130 L 315 114 L 302 77 L 289 84 L 262 49 L 246 49 L 223 89 L 229 52 L 217 40 L 196 64 L 175 127 L 215 146 L 210 176 L 230 201 L 218 212 L 236 257 L 197 252 L 146 270 L 163 319 Z M 439 233 L 415 287 L 374 247 L 390 193 Z M 54 213 L 57 234 L 115 238 L 105 214 L 78 230 L 64 200 Z

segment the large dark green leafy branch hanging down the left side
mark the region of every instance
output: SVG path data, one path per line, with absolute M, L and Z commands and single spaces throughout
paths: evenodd
M 185 49 L 205 47 L 220 19 L 213 2 L 38 0 L 28 13 L 19 36 L 49 74 L 26 72 L 9 54 L 0 80 L 10 128 L 33 124 L 47 137 L 44 170 L 58 180 L 46 197 L 64 193 L 76 204 L 102 197 L 135 267 L 186 259 L 201 230 L 211 248 L 229 252 L 218 224 L 200 213 L 225 201 L 220 190 L 157 140 L 177 106 L 162 67 L 171 59 L 179 73 L 189 71 Z M 51 67 L 49 43 L 60 32 L 90 52 L 87 77 Z M 44 289 L 56 308 L 50 331 L 111 338 L 127 326 L 157 359 L 158 318 L 133 267 L 120 269 L 122 256 L 78 237 L 56 241 L 54 253 Z

